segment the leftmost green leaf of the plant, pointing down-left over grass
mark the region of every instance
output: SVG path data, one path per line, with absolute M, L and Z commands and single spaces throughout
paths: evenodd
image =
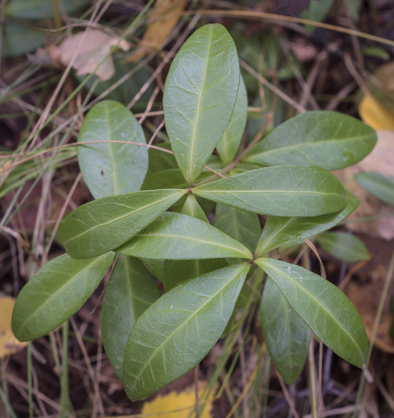
M 91 296 L 114 257 L 109 252 L 73 260 L 63 254 L 41 267 L 15 301 L 12 329 L 16 338 L 30 341 L 63 324 Z

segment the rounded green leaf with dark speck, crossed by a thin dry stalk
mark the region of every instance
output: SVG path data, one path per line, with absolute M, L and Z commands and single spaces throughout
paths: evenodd
M 146 143 L 134 115 L 119 102 L 103 100 L 86 115 L 78 142 L 112 140 Z M 95 199 L 139 190 L 148 168 L 144 146 L 108 142 L 80 145 L 77 155 L 83 180 Z

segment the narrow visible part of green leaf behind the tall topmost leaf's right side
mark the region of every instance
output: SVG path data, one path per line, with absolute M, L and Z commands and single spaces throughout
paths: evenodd
M 242 76 L 238 87 L 237 101 L 222 138 L 216 145 L 216 150 L 223 163 L 230 164 L 237 153 L 248 118 L 248 94 Z

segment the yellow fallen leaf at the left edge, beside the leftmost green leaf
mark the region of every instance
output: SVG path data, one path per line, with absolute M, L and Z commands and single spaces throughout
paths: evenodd
M 11 316 L 14 305 L 14 298 L 0 296 L 0 359 L 10 354 L 15 354 L 27 345 L 27 342 L 19 342 L 11 329 Z

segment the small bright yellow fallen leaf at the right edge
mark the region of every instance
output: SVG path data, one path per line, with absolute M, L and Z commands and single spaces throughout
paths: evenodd
M 363 97 L 359 113 L 363 122 L 374 129 L 394 131 L 394 114 L 370 94 Z

